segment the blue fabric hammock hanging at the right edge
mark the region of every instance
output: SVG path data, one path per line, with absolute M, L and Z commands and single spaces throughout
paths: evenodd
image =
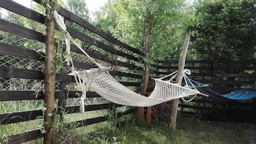
M 256 97 L 256 82 L 253 87 L 245 88 L 239 91 L 231 92 L 229 94 L 221 95 L 212 90 L 208 85 L 201 82 L 190 80 L 199 92 L 209 95 L 215 100 L 249 100 Z

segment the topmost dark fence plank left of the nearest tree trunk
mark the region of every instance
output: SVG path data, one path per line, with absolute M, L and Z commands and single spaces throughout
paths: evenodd
M 0 1 L 0 6 L 4 9 L 12 11 L 16 14 L 27 17 L 28 19 L 32 19 L 41 24 L 45 22 L 45 16 L 42 14 L 33 11 L 32 9 L 27 8 L 26 6 L 22 6 L 21 4 L 16 3 L 15 1 Z

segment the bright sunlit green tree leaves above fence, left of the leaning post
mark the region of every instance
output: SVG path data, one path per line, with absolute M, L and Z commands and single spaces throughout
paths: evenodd
M 181 0 L 113 0 L 102 10 L 97 13 L 96 26 L 141 51 L 148 18 L 152 16 L 151 60 L 179 57 L 187 21 L 187 9 Z

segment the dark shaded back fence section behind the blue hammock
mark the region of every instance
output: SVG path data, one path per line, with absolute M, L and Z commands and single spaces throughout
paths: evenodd
M 177 60 L 158 61 L 158 75 L 174 72 Z M 187 60 L 186 69 L 191 69 L 191 79 L 209 85 L 220 94 L 252 87 L 256 81 L 256 59 L 252 60 Z M 191 102 L 179 104 L 181 115 L 201 117 L 207 120 L 236 120 L 255 122 L 256 100 L 230 100 L 222 102 L 205 97 L 196 97 Z

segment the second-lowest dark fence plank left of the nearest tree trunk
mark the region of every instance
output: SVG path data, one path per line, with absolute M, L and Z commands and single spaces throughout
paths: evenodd
M 35 120 L 37 116 L 42 116 L 42 110 L 29 110 L 22 112 L 8 112 L 0 114 L 1 125 L 19 123 L 27 120 Z

